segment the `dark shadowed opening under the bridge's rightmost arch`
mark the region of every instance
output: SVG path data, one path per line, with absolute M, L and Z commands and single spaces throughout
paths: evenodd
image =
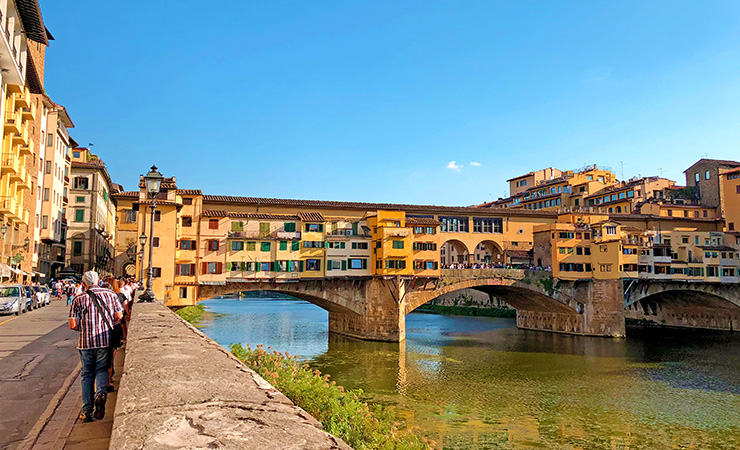
M 641 297 L 625 308 L 630 328 L 663 326 L 738 331 L 740 304 L 699 290 L 667 290 Z

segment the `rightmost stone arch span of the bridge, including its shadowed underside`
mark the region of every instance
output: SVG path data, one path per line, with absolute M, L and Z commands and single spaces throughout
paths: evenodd
M 736 331 L 740 284 L 624 281 L 625 318 L 663 326 Z

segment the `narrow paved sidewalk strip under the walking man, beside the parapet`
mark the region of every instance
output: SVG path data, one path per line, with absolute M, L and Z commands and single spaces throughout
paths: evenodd
M 35 439 L 26 440 L 21 449 L 33 450 L 107 450 L 110 443 L 113 415 L 118 397 L 119 381 L 123 372 L 123 360 L 126 353 L 124 345 L 116 352 L 113 363 L 115 374 L 113 385 L 115 392 L 108 394 L 105 418 L 90 423 L 82 423 L 77 416 L 82 409 L 82 388 L 80 386 L 79 367 L 70 375 L 69 389 L 60 399 L 53 414 L 42 426 Z

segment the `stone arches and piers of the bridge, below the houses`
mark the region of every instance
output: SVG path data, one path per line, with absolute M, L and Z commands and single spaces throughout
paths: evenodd
M 559 280 L 520 269 L 445 269 L 439 279 L 366 277 L 239 281 L 200 286 L 200 299 L 244 291 L 290 294 L 329 312 L 329 331 L 360 339 L 402 341 L 406 314 L 450 292 L 475 289 L 506 302 L 517 327 L 621 337 L 625 318 L 665 326 L 735 330 L 740 286 L 659 280 Z

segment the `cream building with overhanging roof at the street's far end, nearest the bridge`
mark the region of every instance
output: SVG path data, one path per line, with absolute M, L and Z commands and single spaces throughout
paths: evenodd
M 82 147 L 72 151 L 70 180 L 67 265 L 79 274 L 112 274 L 118 185 L 103 161 Z

